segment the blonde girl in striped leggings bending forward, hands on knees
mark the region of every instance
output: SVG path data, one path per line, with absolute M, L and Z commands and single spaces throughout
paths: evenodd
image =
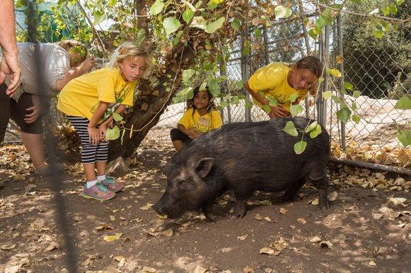
M 121 114 L 127 105 L 133 105 L 137 81 L 149 66 L 148 48 L 125 42 L 114 51 L 108 66 L 71 80 L 60 92 L 57 107 L 66 114 L 82 140 L 85 198 L 108 200 L 123 190 L 122 184 L 105 175 L 108 159 L 105 131 L 113 120 L 108 109 Z

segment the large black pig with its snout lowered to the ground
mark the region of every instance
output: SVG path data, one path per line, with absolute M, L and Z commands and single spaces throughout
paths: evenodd
M 298 137 L 282 130 L 290 120 L 299 131 Z M 290 200 L 307 180 L 319 190 L 319 207 L 328 209 L 327 131 L 322 128 L 316 138 L 304 134 L 307 146 L 301 155 L 293 148 L 308 122 L 307 118 L 238 122 L 201 135 L 169 161 L 166 191 L 153 209 L 169 218 L 201 209 L 214 220 L 212 203 L 232 190 L 237 200 L 232 217 L 242 218 L 245 203 L 255 190 L 285 190 L 282 199 Z

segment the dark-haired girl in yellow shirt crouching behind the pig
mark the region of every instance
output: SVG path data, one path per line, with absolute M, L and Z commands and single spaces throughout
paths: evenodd
M 177 122 L 177 128 L 171 129 L 171 141 L 178 152 L 188 143 L 201 134 L 217 129 L 223 125 L 221 115 L 216 111 L 211 101 L 212 94 L 208 88 L 199 90 L 195 88 L 194 96 L 187 101 L 188 109 Z

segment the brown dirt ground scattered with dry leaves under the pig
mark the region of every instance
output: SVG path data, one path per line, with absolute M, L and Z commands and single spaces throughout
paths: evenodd
M 330 165 L 337 196 L 326 213 L 306 186 L 292 202 L 256 193 L 238 220 L 229 192 L 214 204 L 216 222 L 196 212 L 166 220 L 149 206 L 172 155 L 168 133 L 153 129 L 127 161 L 125 190 L 101 203 L 79 196 L 81 165 L 66 166 L 56 193 L 55 178 L 34 177 L 22 146 L 1 147 L 0 272 L 71 272 L 67 237 L 78 272 L 411 272 L 409 190 L 351 185 L 347 168 Z

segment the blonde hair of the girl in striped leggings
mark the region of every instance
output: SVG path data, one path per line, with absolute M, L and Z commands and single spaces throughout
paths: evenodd
M 134 57 L 143 57 L 146 64 L 146 70 L 143 76 L 149 74 L 150 68 L 153 65 L 151 60 L 151 52 L 149 46 L 141 43 L 134 44 L 133 42 L 123 42 L 117 49 L 110 55 L 110 61 L 107 66 L 111 68 L 117 68 L 121 71 L 121 63 L 126 59 L 134 59 Z

